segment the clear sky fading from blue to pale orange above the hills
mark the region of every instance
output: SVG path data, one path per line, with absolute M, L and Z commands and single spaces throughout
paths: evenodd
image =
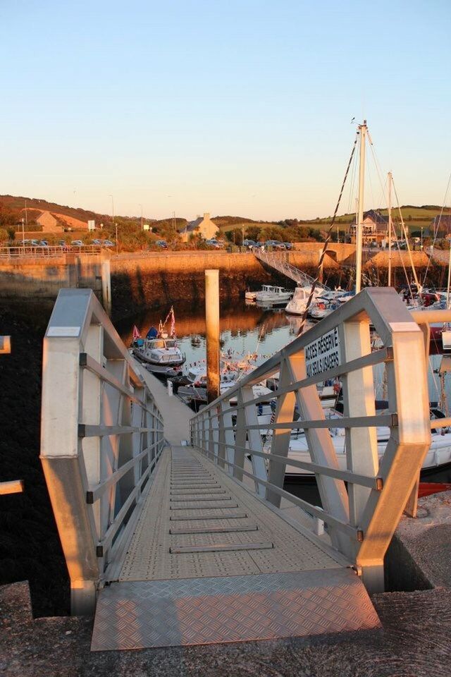
M 364 116 L 400 201 L 441 205 L 450 20 L 450 0 L 1 0 L 0 194 L 325 216 Z

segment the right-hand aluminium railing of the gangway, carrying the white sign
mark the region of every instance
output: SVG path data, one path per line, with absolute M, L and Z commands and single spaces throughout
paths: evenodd
M 383 348 L 371 353 L 370 323 Z M 306 348 L 338 332 L 338 365 L 307 376 Z M 385 364 L 388 412 L 376 415 L 373 366 Z M 191 422 L 192 445 L 236 480 L 254 480 L 256 492 L 280 506 L 284 497 L 323 520 L 335 549 L 362 574 L 371 591 L 383 590 L 383 558 L 416 485 L 431 445 L 424 335 L 393 288 L 366 288 L 280 353 L 257 367 Z M 259 424 L 252 385 L 279 372 L 273 422 Z M 344 415 L 326 419 L 316 384 L 342 378 Z M 237 406 L 229 400 L 236 396 Z M 294 420 L 295 405 L 300 420 Z M 236 414 L 233 425 L 232 416 Z M 377 426 L 390 427 L 381 462 Z M 344 427 L 347 469 L 338 468 L 330 428 Z M 271 451 L 261 431 L 273 430 Z M 290 458 L 292 429 L 304 429 L 311 463 Z M 250 454 L 252 472 L 245 469 Z M 268 470 L 266 470 L 268 463 Z M 314 472 L 323 508 L 283 489 L 285 466 Z M 347 483 L 347 487 L 345 486 Z

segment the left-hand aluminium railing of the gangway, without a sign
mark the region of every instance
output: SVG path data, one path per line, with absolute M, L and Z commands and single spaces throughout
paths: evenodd
M 61 289 L 44 337 L 40 458 L 73 614 L 92 614 L 163 449 L 163 420 L 92 291 Z

